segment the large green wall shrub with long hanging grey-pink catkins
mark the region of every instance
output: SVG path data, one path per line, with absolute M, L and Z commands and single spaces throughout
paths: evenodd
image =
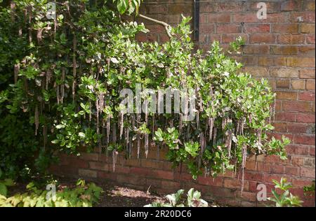
M 46 168 L 53 152 L 78 153 L 82 146 L 112 151 L 115 163 L 119 151 L 130 155 L 137 148 L 139 156 L 144 148 L 147 155 L 156 143 L 168 148 L 174 166 L 186 164 L 193 178 L 243 171 L 251 155 L 286 158 L 289 140 L 267 136 L 275 109 L 267 80 L 242 73 L 242 64 L 216 41 L 207 52 L 195 51 L 189 17 L 166 26 L 166 43 L 138 43 L 136 34 L 147 32 L 143 24 L 124 21 L 111 4 L 96 2 L 57 1 L 53 19 L 44 0 L 1 6 L 4 173 Z M 238 38 L 230 50 L 241 44 Z M 181 104 L 185 110 L 190 104 L 195 117 L 174 113 L 175 106 L 171 113 L 139 113 L 136 106 L 126 111 L 120 92 L 138 85 L 153 94 L 190 89 Z M 131 101 L 137 103 L 136 97 Z M 159 106 L 144 90 L 141 102 Z M 15 164 L 19 157 L 12 148 L 24 157 L 22 164 Z

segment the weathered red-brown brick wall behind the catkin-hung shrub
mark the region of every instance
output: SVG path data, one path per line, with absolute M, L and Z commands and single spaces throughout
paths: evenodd
M 157 3 L 155 3 L 157 2 Z M 244 70 L 256 78 L 268 78 L 277 93 L 275 136 L 291 139 L 287 146 L 288 160 L 278 157 L 251 158 L 246 163 L 244 192 L 240 196 L 240 176 L 226 173 L 218 178 L 201 176 L 192 180 L 185 166 L 171 169 L 166 150 L 151 147 L 148 158 L 118 158 L 113 173 L 112 157 L 98 153 L 81 157 L 62 156 L 53 170 L 67 176 L 81 176 L 152 192 L 170 193 L 180 188 L 195 187 L 206 199 L 232 206 L 256 206 L 256 187 L 265 183 L 270 192 L 272 179 L 288 178 L 294 194 L 314 206 L 315 199 L 303 197 L 303 186 L 315 180 L 315 1 L 264 1 L 268 15 L 256 17 L 254 1 L 202 1 L 199 9 L 199 40 L 197 48 L 207 50 L 213 40 L 227 45 L 236 36 L 246 40 L 241 55 L 234 57 L 245 64 Z M 193 15 L 193 0 L 145 1 L 140 13 L 177 24 L 180 14 Z M 164 27 L 149 23 L 149 34 L 138 35 L 139 41 L 166 41 Z

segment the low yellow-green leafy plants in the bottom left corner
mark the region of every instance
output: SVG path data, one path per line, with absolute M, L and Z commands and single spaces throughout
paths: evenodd
M 0 194 L 1 207 L 91 207 L 100 199 L 103 192 L 94 183 L 86 185 L 84 180 L 78 180 L 73 185 L 48 185 L 47 190 L 41 190 L 29 183 L 26 191 L 16 193 L 12 197 Z M 57 189 L 57 190 L 56 190 Z

